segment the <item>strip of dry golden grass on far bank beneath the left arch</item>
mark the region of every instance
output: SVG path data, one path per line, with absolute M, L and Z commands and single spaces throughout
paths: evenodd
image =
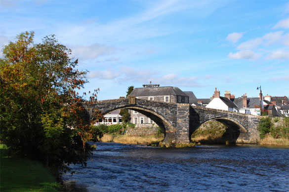
M 160 143 L 164 140 L 164 135 L 146 135 L 146 136 L 132 136 L 132 135 L 112 135 L 104 134 L 101 138 L 102 142 L 115 142 L 122 144 L 141 144 L 152 145 Z

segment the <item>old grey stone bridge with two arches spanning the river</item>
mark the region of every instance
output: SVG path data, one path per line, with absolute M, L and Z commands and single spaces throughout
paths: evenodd
M 255 115 L 137 98 L 102 100 L 86 108 L 89 114 L 92 109 L 98 109 L 103 114 L 118 109 L 137 111 L 164 130 L 164 142 L 189 143 L 192 133 L 209 120 L 217 120 L 228 127 L 226 132 L 230 142 L 255 143 L 259 139 L 257 125 L 260 117 Z

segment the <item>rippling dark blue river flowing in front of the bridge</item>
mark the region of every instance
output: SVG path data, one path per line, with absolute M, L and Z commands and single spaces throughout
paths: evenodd
M 289 148 L 158 148 L 97 143 L 87 166 L 63 175 L 79 191 L 289 191 Z

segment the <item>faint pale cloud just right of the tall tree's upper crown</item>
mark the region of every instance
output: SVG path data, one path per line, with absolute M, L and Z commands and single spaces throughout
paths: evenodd
M 95 59 L 102 55 L 110 55 L 116 52 L 116 48 L 94 43 L 91 45 L 70 46 L 74 57 L 81 59 Z

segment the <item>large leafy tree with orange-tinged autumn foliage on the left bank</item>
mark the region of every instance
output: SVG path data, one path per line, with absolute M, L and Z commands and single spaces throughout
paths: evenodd
M 78 59 L 54 35 L 33 43 L 34 32 L 21 33 L 3 48 L 0 59 L 0 141 L 12 155 L 37 159 L 67 170 L 85 164 L 86 141 L 95 130 L 76 91 L 87 72 L 76 70 Z M 96 99 L 97 90 L 87 105 Z M 95 111 L 96 120 L 101 117 Z M 99 134 L 99 133 L 98 133 Z M 85 153 L 86 149 L 86 153 Z M 79 153 L 83 151 L 83 153 Z

